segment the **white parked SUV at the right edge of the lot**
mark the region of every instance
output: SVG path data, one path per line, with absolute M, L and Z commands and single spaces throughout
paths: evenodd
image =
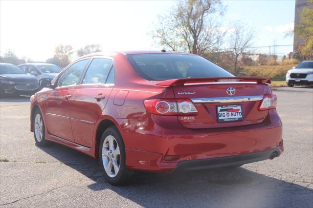
M 293 67 L 286 74 L 286 83 L 293 87 L 295 84 L 313 84 L 313 61 L 305 61 Z

